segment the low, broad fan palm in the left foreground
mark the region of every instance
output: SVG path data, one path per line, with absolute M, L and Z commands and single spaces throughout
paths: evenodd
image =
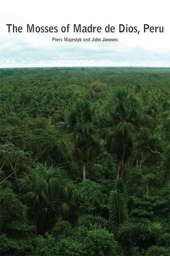
M 63 219 L 71 213 L 70 198 L 74 185 L 62 169 L 36 164 L 34 169 L 20 177 L 18 185 L 21 199 L 33 210 L 37 222 L 41 216 L 44 232 L 49 228 L 51 215 L 53 219 Z

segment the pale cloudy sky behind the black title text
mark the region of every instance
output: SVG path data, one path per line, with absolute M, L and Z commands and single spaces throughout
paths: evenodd
M 170 67 L 169 0 L 2 0 L 0 68 L 135 66 Z M 6 24 L 22 26 L 8 33 Z M 26 33 L 26 24 L 66 26 L 69 33 Z M 115 33 L 73 33 L 73 24 L 116 28 Z M 119 24 L 137 26 L 140 34 L 118 33 Z M 164 33 L 143 33 L 144 24 Z M 52 42 L 52 37 L 118 38 L 118 42 Z

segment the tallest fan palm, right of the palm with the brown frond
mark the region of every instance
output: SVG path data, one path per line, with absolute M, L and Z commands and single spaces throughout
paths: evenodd
M 109 133 L 106 148 L 118 159 L 117 178 L 120 176 L 121 165 L 130 158 L 133 151 L 133 135 L 139 133 L 145 139 L 149 133 L 145 127 L 148 115 L 142 100 L 126 88 L 118 88 L 107 104 Z

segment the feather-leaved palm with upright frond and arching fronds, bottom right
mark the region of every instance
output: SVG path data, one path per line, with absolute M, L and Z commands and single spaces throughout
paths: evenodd
M 126 186 L 122 179 L 116 179 L 115 189 L 109 196 L 109 219 L 99 215 L 84 214 L 78 218 L 78 224 L 88 229 L 105 228 L 114 232 L 123 242 L 136 236 L 160 228 L 160 223 L 151 223 L 147 219 L 131 219 L 127 210 Z

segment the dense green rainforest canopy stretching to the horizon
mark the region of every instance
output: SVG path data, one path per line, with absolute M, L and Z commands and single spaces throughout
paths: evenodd
M 170 255 L 170 70 L 0 81 L 0 254 Z

